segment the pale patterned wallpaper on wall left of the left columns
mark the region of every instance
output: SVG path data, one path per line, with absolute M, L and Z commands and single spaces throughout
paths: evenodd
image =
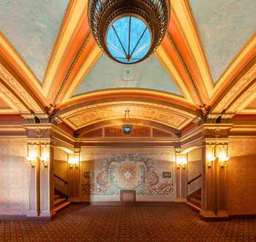
M 29 206 L 25 140 L 0 139 L 0 214 L 24 214 Z

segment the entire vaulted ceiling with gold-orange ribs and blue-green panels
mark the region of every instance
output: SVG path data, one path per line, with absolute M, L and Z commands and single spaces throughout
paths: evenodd
M 73 129 L 135 118 L 175 129 L 211 116 L 255 114 L 254 0 L 170 0 L 154 56 L 122 66 L 102 56 L 87 1 L 0 1 L 0 113 L 46 114 Z M 48 107 L 48 108 L 45 108 Z

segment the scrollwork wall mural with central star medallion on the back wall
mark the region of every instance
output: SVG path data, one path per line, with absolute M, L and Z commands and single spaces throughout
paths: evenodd
M 118 154 L 93 163 L 83 165 L 83 196 L 116 195 L 124 189 L 135 190 L 138 195 L 174 194 L 173 176 L 162 178 L 163 170 L 173 169 L 171 162 L 153 160 L 142 154 Z

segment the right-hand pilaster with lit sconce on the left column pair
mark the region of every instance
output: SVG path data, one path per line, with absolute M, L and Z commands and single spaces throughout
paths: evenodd
M 41 214 L 42 217 L 51 217 L 53 210 L 53 154 L 54 148 L 50 139 L 41 143 Z

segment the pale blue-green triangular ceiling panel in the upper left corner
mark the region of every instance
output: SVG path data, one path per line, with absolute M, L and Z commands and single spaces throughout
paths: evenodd
M 68 0 L 0 0 L 0 30 L 43 80 Z

